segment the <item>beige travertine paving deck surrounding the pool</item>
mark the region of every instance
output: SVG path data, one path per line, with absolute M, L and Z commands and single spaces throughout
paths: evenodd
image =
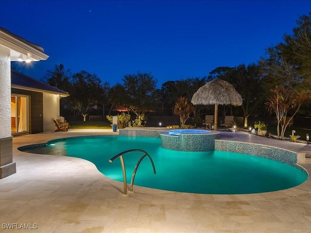
M 201 195 L 135 186 L 106 178 L 82 159 L 30 154 L 17 147 L 111 130 L 37 133 L 13 138 L 17 173 L 0 180 L 3 233 L 311 233 L 311 181 L 287 190 L 248 195 Z M 245 132 L 221 132 L 225 140 L 307 151 L 311 145 Z M 310 147 L 310 148 L 309 148 Z M 311 160 L 302 164 L 311 172 Z M 8 230 L 17 223 L 36 230 Z M 15 226 L 15 225 L 14 225 Z

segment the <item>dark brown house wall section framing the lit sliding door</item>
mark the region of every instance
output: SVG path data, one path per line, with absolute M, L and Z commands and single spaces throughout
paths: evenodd
M 29 96 L 28 99 L 29 133 L 43 132 L 43 93 L 21 90 L 16 88 L 12 88 L 11 92 L 12 94 L 22 94 Z

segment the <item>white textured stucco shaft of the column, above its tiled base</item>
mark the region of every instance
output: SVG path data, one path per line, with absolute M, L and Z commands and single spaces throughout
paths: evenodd
M 0 138 L 11 137 L 10 50 L 0 45 Z

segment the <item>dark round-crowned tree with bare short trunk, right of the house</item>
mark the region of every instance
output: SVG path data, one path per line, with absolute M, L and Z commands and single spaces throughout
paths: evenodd
M 95 104 L 98 104 L 103 97 L 103 86 L 101 80 L 95 75 L 80 71 L 72 76 L 71 102 L 75 109 L 83 115 L 86 120 L 88 110 Z

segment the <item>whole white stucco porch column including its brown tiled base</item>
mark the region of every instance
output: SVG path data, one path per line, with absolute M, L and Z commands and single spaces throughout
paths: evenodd
M 0 45 L 0 179 L 16 173 L 12 138 L 10 50 Z

